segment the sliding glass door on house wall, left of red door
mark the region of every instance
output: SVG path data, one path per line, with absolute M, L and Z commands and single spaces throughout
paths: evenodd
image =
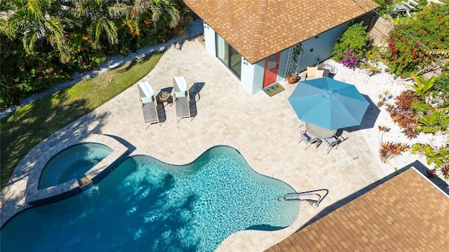
M 237 77 L 241 77 L 241 54 L 232 48 L 219 34 L 215 34 L 217 58 L 219 58 L 227 68 L 231 69 Z

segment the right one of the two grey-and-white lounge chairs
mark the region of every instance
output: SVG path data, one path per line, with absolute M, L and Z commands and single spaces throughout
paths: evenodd
M 173 87 L 175 90 L 173 102 L 175 103 L 176 116 L 180 118 L 177 120 L 179 122 L 181 118 L 191 117 L 189 90 L 184 76 L 174 77 Z

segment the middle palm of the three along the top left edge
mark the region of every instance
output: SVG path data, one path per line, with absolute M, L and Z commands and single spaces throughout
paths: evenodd
M 78 0 L 75 3 L 74 13 L 76 17 L 83 18 L 86 22 L 88 34 L 92 38 L 92 46 L 95 49 L 101 47 L 100 37 L 104 32 L 109 45 L 119 42 L 116 18 L 128 13 L 130 6 L 126 3 L 110 0 Z

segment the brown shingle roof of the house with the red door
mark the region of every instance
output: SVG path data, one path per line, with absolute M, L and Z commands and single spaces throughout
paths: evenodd
M 184 2 L 251 64 L 379 6 L 371 0 Z

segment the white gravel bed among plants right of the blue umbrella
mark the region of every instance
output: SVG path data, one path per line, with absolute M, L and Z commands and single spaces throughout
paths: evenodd
M 413 85 L 413 80 L 403 80 L 402 78 L 394 79 L 394 74 L 389 73 L 387 71 L 387 66 L 384 64 L 380 64 L 380 73 L 370 76 L 366 69 L 352 70 L 340 63 L 334 62 L 332 59 L 328 59 L 328 61 L 324 63 L 333 65 L 337 69 L 337 74 L 334 76 L 335 80 L 341 80 L 356 85 L 361 94 L 370 97 L 376 108 L 377 103 L 380 102 L 381 99 L 384 99 L 386 104 L 394 104 L 394 102 L 396 102 L 395 97 L 398 94 L 401 94 L 404 90 L 413 90 L 413 88 L 410 87 L 410 85 Z M 397 144 L 407 144 L 408 146 L 412 146 L 413 144 L 429 144 L 434 148 L 449 146 L 448 133 L 420 133 L 416 138 L 408 139 L 406 135 L 401 133 L 401 128 L 391 119 L 389 113 L 386 111 L 386 106 L 380 106 L 380 108 L 377 109 L 377 113 L 367 111 L 361 125 L 363 128 L 363 136 L 368 144 L 370 144 L 371 151 L 375 153 L 375 155 L 377 155 L 380 150 L 380 132 L 378 126 L 386 126 L 390 129 L 389 132 L 383 134 L 383 142 L 389 141 Z M 366 120 L 367 118 L 368 120 Z M 363 127 L 363 124 L 365 124 L 366 127 Z M 422 165 L 415 168 L 424 174 L 426 169 L 434 169 L 433 164 L 427 164 L 427 159 L 424 155 L 413 155 L 410 151 L 391 158 L 387 163 L 382 163 L 378 155 L 377 158 L 382 169 L 384 169 L 387 174 L 394 172 L 394 169 L 401 169 L 412 163 L 417 164 L 416 161 L 420 162 Z M 443 181 L 443 176 L 439 174 L 438 178 L 431 179 L 431 181 L 436 183 L 436 185 L 446 193 L 449 193 L 448 183 Z

